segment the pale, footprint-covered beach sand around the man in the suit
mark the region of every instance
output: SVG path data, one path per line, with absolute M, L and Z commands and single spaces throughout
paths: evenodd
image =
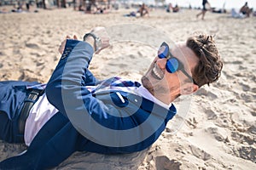
M 0 14 L 0 81 L 48 82 L 64 37 L 76 34 L 82 39 L 95 26 L 152 26 L 175 42 L 206 32 L 214 35 L 224 61 L 218 82 L 174 102 L 177 116 L 148 150 L 114 156 L 76 152 L 54 169 L 256 169 L 256 17 L 236 20 L 229 14 L 207 13 L 205 20 L 199 20 L 197 10 L 170 14 L 159 9 L 145 18 L 123 16 L 131 10 L 83 14 L 66 8 Z M 136 33 L 143 35 L 140 26 Z M 153 34 L 147 41 L 157 38 Z M 155 54 L 154 47 L 142 42 L 113 42 L 94 56 L 90 70 L 100 79 L 121 76 L 139 81 Z M 24 148 L 0 141 L 0 161 Z

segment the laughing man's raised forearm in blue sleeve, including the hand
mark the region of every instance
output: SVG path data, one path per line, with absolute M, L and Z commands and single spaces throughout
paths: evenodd
M 109 46 L 108 33 L 102 27 L 97 27 L 91 32 L 102 39 L 102 48 L 96 51 L 98 54 Z M 95 40 L 93 37 L 86 38 L 86 42 L 78 41 L 77 37 L 74 39 L 61 42 L 61 59 L 45 90 L 49 102 L 64 115 L 67 115 L 68 108 L 82 107 L 84 104 L 80 102 L 83 100 L 87 100 L 88 104 L 91 100 L 96 100 L 84 87 L 85 84 L 92 85 L 91 83 L 96 81 L 88 70 L 95 49 Z M 61 50 L 63 47 L 65 48 Z M 98 105 L 96 101 L 93 104 Z

